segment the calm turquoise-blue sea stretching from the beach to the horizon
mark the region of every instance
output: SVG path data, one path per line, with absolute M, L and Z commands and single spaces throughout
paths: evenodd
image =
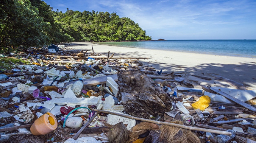
M 100 42 L 104 45 L 256 58 L 256 40 Z

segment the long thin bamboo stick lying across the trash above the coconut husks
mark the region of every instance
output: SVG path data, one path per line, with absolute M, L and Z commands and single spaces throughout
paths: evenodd
M 191 126 L 185 126 L 185 125 L 180 125 L 180 124 L 174 124 L 174 123 L 170 123 L 170 122 L 161 122 L 161 121 L 149 120 L 149 119 L 138 118 L 138 117 L 134 117 L 134 116 L 131 116 L 131 115 L 114 113 L 114 112 L 104 111 L 104 110 L 97 110 L 97 109 L 91 109 L 91 110 L 97 111 L 97 112 L 102 112 L 102 113 L 107 113 L 107 114 L 112 114 L 112 115 L 117 115 L 117 116 L 122 116 L 122 117 L 129 118 L 129 119 L 135 119 L 135 120 L 146 121 L 146 122 L 151 122 L 151 123 L 155 123 L 155 124 L 162 124 L 162 125 L 167 125 L 167 126 L 174 126 L 174 127 L 184 128 L 184 129 L 187 129 L 187 130 L 211 132 L 211 133 L 218 133 L 218 134 L 222 134 L 222 135 L 231 135 L 231 132 L 227 132 L 227 131 L 218 131 L 218 130 L 211 130 L 211 129 L 206 129 L 206 128 L 199 128 L 199 127 L 191 127 Z

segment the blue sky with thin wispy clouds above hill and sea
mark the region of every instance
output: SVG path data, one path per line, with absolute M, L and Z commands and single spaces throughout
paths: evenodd
M 44 0 L 54 11 L 117 12 L 152 39 L 256 39 L 256 0 Z

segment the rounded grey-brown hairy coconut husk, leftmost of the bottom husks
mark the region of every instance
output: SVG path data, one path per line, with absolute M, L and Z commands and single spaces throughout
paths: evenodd
M 129 139 L 129 131 L 123 122 L 119 122 L 111 128 L 107 137 L 110 143 L 126 143 Z

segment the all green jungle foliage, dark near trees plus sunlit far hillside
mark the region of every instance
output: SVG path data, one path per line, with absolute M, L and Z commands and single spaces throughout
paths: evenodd
M 42 0 L 1 0 L 0 47 L 43 46 L 73 41 L 151 40 L 130 18 L 115 12 L 53 11 Z M 8 48 L 9 47 L 9 48 Z

